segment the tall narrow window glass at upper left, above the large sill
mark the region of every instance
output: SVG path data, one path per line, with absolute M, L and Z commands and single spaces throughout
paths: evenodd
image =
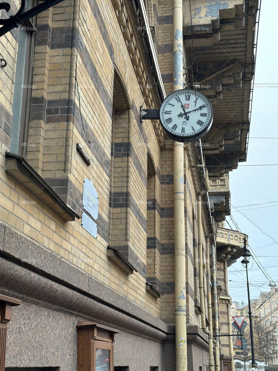
M 27 9 L 33 1 L 27 1 Z M 10 152 L 26 156 L 27 131 L 32 91 L 34 31 L 33 20 L 19 27 L 19 40 L 16 60 L 16 74 L 13 92 L 13 121 L 11 127 Z

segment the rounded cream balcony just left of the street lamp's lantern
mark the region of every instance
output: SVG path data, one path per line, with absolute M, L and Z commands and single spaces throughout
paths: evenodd
M 218 227 L 216 233 L 217 260 L 226 259 L 228 266 L 235 263 L 243 254 L 244 236 L 246 234 L 239 231 Z

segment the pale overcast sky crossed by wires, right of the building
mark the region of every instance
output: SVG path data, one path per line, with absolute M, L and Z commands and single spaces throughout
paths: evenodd
M 278 1 L 262 1 L 247 162 L 239 165 L 278 164 Z M 261 87 L 264 84 L 266 87 Z M 260 137 L 255 139 L 252 137 Z M 278 242 L 278 166 L 239 166 L 230 172 L 231 203 L 252 222 Z M 276 201 L 276 203 L 263 204 Z M 269 207 L 270 205 L 274 205 Z M 267 207 L 265 207 L 267 206 Z M 262 209 L 257 209 L 261 207 Z M 250 209 L 250 210 L 246 210 Z M 249 246 L 258 256 L 270 278 L 278 281 L 278 244 L 266 236 L 244 215 L 232 208 L 239 229 L 248 234 Z M 226 219 L 233 229 L 230 217 Z M 226 223 L 228 228 L 228 224 Z M 269 246 L 266 246 L 269 245 Z M 263 246 L 263 247 L 261 247 Z M 247 303 L 246 273 L 238 259 L 229 267 L 229 293 L 233 300 Z M 257 264 L 249 264 L 251 299 L 269 291 L 269 280 Z

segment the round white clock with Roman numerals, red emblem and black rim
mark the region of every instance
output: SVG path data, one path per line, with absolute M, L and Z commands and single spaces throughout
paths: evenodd
M 163 101 L 160 122 L 169 137 L 193 141 L 203 137 L 212 124 L 212 106 L 202 93 L 191 89 L 177 90 Z

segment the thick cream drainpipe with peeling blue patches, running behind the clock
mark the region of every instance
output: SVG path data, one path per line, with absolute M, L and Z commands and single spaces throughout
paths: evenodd
M 183 89 L 182 0 L 173 0 L 173 91 Z M 173 146 L 176 371 L 187 371 L 184 146 Z

